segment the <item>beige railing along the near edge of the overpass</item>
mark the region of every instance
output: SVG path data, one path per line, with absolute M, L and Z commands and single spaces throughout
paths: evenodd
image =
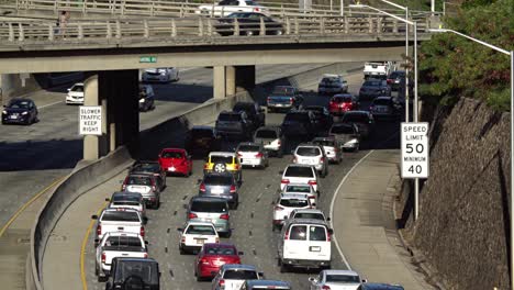
M 405 30 L 403 22 L 388 16 L 367 18 L 311 18 L 287 16 L 282 27 L 259 24 L 222 23 L 220 19 L 177 18 L 169 20 L 104 20 L 69 22 L 64 31 L 49 21 L 0 21 L 0 43 L 23 42 L 69 42 L 85 40 L 126 40 L 126 38 L 210 38 L 211 42 L 227 37 L 244 37 L 246 33 L 259 34 L 258 37 L 273 37 L 268 34 L 286 35 L 399 35 Z M 427 32 L 429 19 L 418 23 L 420 32 Z M 242 38 L 243 41 L 244 38 Z

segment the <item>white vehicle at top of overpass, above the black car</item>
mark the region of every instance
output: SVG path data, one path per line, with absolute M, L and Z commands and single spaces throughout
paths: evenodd
M 266 7 L 253 0 L 222 0 L 217 4 L 200 5 L 194 13 L 225 18 L 234 12 L 258 12 L 269 14 Z

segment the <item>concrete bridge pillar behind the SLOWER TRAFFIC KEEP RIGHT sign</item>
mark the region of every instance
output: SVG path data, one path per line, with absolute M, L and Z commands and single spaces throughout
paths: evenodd
M 85 81 L 85 105 L 102 105 L 102 136 L 83 138 L 83 159 L 96 160 L 121 145 L 136 148 L 139 136 L 138 72 L 91 72 Z

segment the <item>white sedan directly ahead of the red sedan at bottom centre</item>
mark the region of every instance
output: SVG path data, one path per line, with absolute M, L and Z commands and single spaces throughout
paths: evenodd
M 220 243 L 220 235 L 212 223 L 188 222 L 183 228 L 177 228 L 180 235 L 180 254 L 200 250 L 203 244 Z

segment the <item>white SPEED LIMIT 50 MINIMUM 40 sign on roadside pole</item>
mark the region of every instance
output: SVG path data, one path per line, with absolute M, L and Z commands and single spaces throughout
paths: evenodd
M 402 123 L 402 178 L 428 178 L 428 123 Z

